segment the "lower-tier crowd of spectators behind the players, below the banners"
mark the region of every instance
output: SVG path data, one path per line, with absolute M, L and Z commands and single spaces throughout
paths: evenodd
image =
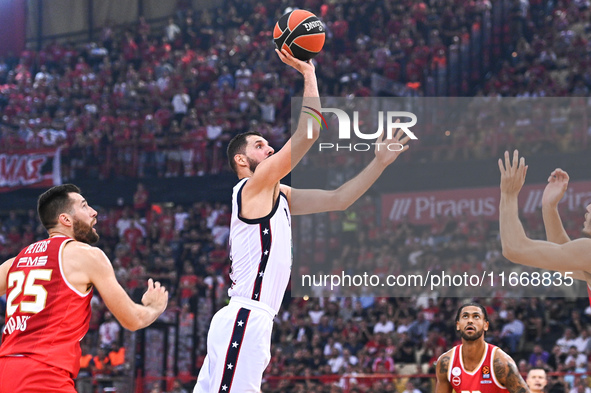
M 353 206 L 359 217 L 364 217 L 369 202 L 368 198 Z M 221 307 L 230 285 L 228 223 L 226 205 L 151 204 L 148 191 L 140 184 L 133 206 L 101 209 L 97 231 L 101 235 L 99 246 L 112 260 L 118 280 L 136 301 L 145 290 L 145 279 L 153 277 L 171 294 L 169 310 L 161 319 L 178 315 L 180 320 L 197 320 L 196 316 L 201 316 L 197 323 L 206 332 L 208 320 L 203 315 L 211 316 L 211 310 L 208 314 L 203 305 Z M 402 267 L 412 269 L 417 263 L 422 266 L 422 260 L 458 263 L 463 271 L 502 263 L 495 222 L 450 220 L 448 225 L 433 226 L 399 223 L 391 231 L 376 234 L 371 234 L 367 221 L 360 220 L 358 225 L 357 234 L 370 235 L 345 237 L 350 245 L 347 258 L 354 264 L 375 259 L 372 253 L 385 248 L 390 250 L 388 272 Z M 533 237 L 543 238 L 539 221 L 530 220 L 528 225 L 533 227 Z M 32 210 L 0 215 L 0 258 L 8 259 L 44 236 Z M 417 253 L 419 248 L 421 252 Z M 285 298 L 275 320 L 273 356 L 263 391 L 432 391 L 432 378 L 419 375 L 409 379 L 404 375 L 432 374 L 438 356 L 459 342 L 455 313 L 465 299 L 435 294 L 353 298 L 339 297 L 338 292 L 322 295 Z M 490 317 L 486 340 L 511 354 L 521 371 L 534 366 L 566 373 L 587 371 L 591 308 L 586 298 L 514 298 L 500 293 L 477 300 L 486 306 Z M 0 309 L 3 305 L 0 301 Z M 0 312 L 2 318 L 4 310 Z M 193 334 L 189 328 L 191 339 L 205 339 L 204 335 L 196 338 Z M 125 355 L 130 348 L 124 337 L 124 329 L 95 295 L 90 331 L 83 342 L 81 376 L 94 377 L 104 385 L 111 381 L 101 382 L 105 375 L 125 375 L 138 366 Z M 184 340 L 179 338 L 179 345 Z M 200 366 L 205 348 L 198 345 L 191 351 L 195 352 L 196 364 L 188 365 L 189 372 Z M 364 378 L 368 375 L 374 377 Z M 578 381 L 575 375 L 557 377 L 549 391 L 566 392 Z M 188 381 L 187 387 L 192 383 Z

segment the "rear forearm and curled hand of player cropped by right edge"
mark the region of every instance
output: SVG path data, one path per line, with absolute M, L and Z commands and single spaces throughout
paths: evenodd
M 568 173 L 560 168 L 555 169 L 548 178 L 548 185 L 542 196 L 542 217 L 546 239 L 552 243 L 564 244 L 570 241 L 558 213 L 558 203 L 568 188 L 568 180 Z

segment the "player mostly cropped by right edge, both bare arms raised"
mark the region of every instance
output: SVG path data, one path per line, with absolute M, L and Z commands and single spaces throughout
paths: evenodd
M 542 197 L 542 215 L 548 241 L 531 240 L 519 220 L 519 191 L 525 183 L 527 165 L 519 158 L 519 152 L 513 152 L 513 162 L 509 152 L 505 160 L 499 159 L 501 171 L 501 203 L 499 211 L 499 229 L 503 256 L 511 262 L 541 269 L 568 272 L 568 277 L 587 282 L 591 298 L 591 204 L 586 206 L 583 236 L 571 240 L 564 230 L 558 202 L 568 187 L 568 174 L 561 169 L 554 170 L 548 178 L 548 185 Z

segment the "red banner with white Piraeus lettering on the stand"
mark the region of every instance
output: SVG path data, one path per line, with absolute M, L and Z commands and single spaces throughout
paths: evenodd
M 546 184 L 524 186 L 519 194 L 519 211 L 529 215 L 542 207 Z M 499 219 L 499 187 L 462 188 L 443 191 L 409 192 L 382 196 L 382 218 L 386 221 L 408 219 L 414 224 L 431 224 L 438 217 L 466 216 Z M 575 210 L 591 203 L 591 181 L 571 182 L 560 202 L 561 209 Z

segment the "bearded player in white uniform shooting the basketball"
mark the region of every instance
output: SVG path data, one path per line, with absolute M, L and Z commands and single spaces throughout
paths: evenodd
M 320 110 L 313 64 L 277 53 L 303 75 L 304 105 Z M 231 300 L 211 321 L 207 357 L 194 392 L 260 392 L 271 359 L 273 318 L 291 273 L 291 215 L 346 209 L 408 149 L 408 137 L 394 135 L 388 142 L 403 145 L 400 151 L 377 149 L 374 160 L 339 189 L 291 189 L 279 181 L 318 138 L 319 128 L 314 129 L 313 139 L 306 138 L 307 120 L 302 113 L 291 139 L 275 154 L 257 132 L 237 135 L 228 145 L 230 166 L 240 179 L 232 195 Z

